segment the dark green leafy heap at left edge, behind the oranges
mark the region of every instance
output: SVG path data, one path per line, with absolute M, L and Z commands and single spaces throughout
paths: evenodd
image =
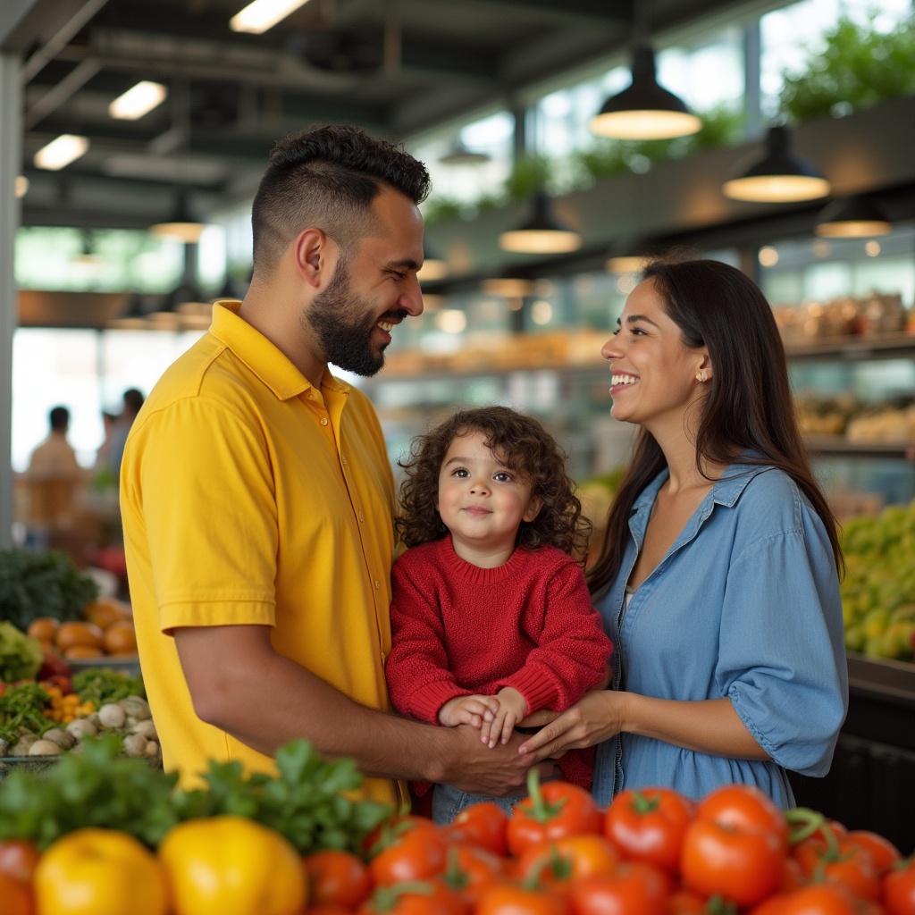
M 0 618 L 26 631 L 36 617 L 80 619 L 99 587 L 65 553 L 0 550 Z

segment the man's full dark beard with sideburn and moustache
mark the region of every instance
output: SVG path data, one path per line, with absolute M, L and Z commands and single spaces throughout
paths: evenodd
M 314 331 L 328 362 L 357 375 L 371 376 L 384 365 L 387 346 L 372 349 L 375 325 L 384 318 L 400 321 L 406 315 L 403 308 L 375 315 L 370 302 L 353 295 L 350 271 L 340 263 L 327 289 L 315 296 L 310 310 L 302 316 L 302 323 Z

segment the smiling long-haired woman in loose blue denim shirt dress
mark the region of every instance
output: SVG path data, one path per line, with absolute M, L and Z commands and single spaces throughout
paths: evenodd
M 793 804 L 847 707 L 836 525 L 795 420 L 765 297 L 715 261 L 656 262 L 613 339 L 611 415 L 640 426 L 588 584 L 613 689 L 528 739 L 597 748 L 594 792 L 728 782 Z

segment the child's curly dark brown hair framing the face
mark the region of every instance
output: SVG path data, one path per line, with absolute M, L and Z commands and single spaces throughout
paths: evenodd
M 486 436 L 487 447 L 506 467 L 529 481 L 531 494 L 543 500 L 533 522 L 522 521 L 516 545 L 534 550 L 551 544 L 584 565 L 591 522 L 582 516 L 575 483 L 565 472 L 565 453 L 538 420 L 504 406 L 458 410 L 432 431 L 414 438 L 409 458 L 397 462 L 406 478 L 400 488 L 401 511 L 394 523 L 404 543 L 418 546 L 448 533 L 436 510 L 438 473 L 452 441 L 468 432 Z

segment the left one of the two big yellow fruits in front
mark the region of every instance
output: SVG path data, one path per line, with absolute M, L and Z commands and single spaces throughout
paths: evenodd
M 86 827 L 59 838 L 35 868 L 41 915 L 166 915 L 167 882 L 133 835 Z

